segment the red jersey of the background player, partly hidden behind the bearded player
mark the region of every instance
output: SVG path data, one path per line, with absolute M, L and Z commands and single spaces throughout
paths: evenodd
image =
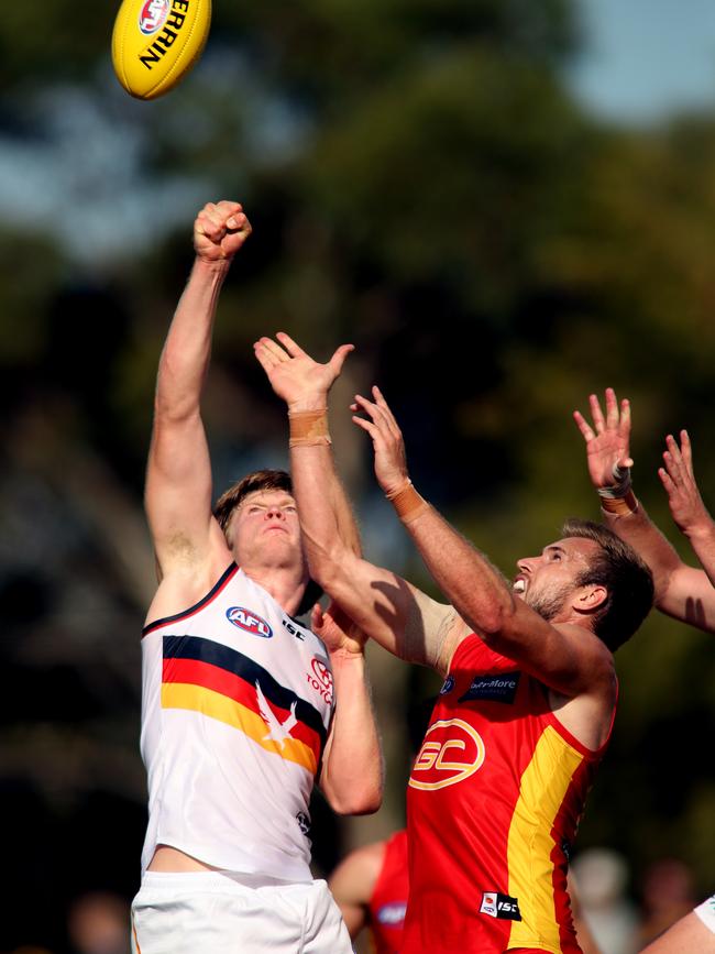
M 385 842 L 383 866 L 367 903 L 375 954 L 400 950 L 408 892 L 407 832 L 403 829 Z

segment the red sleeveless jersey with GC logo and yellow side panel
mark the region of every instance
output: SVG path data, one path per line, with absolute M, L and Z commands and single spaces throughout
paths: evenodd
M 407 789 L 404 954 L 580 952 L 568 859 L 604 749 L 514 660 L 460 644 Z

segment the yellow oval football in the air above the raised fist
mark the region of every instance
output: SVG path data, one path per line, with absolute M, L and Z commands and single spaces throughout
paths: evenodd
M 112 33 L 117 78 L 138 99 L 156 99 L 201 55 L 211 0 L 123 0 Z

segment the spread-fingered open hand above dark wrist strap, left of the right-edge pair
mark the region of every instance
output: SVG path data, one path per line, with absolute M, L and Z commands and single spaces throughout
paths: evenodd
M 630 402 L 624 398 L 618 406 L 616 392 L 606 388 L 606 414 L 595 394 L 590 395 L 593 426 L 579 410 L 573 418 L 586 442 L 588 474 L 596 487 L 612 487 L 619 483 L 622 472 L 632 467 L 630 457 Z

